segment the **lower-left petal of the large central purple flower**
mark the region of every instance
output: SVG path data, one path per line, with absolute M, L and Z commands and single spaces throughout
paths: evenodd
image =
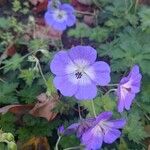
M 78 89 L 77 84 L 73 84 L 69 81 L 69 76 L 72 75 L 56 76 L 54 78 L 55 87 L 60 90 L 61 94 L 64 96 L 73 96 Z

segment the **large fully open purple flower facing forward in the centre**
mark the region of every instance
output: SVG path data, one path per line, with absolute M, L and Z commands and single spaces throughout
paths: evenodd
M 55 87 L 64 96 L 75 96 L 79 100 L 93 99 L 97 94 L 96 85 L 110 82 L 110 67 L 96 60 L 96 50 L 90 46 L 76 46 L 60 51 L 50 64 L 56 75 Z

